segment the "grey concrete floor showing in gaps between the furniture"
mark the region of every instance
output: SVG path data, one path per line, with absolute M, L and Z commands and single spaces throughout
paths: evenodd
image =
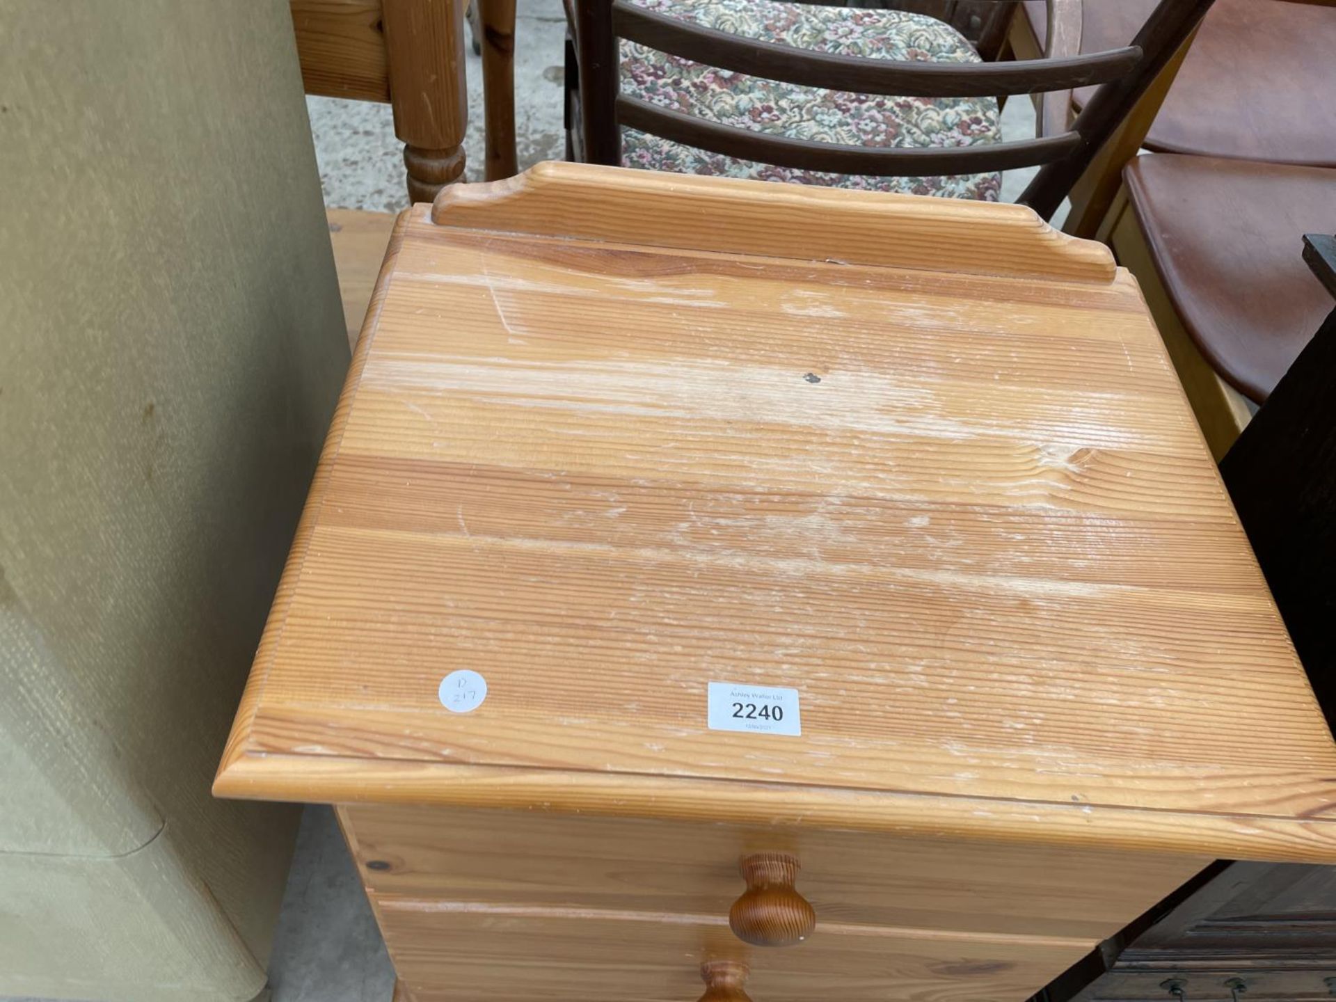
M 516 134 L 520 167 L 561 159 L 564 134 L 561 0 L 518 0 L 516 25 Z M 468 57 L 466 176 L 481 179 L 481 60 Z M 325 203 L 330 208 L 398 211 L 407 206 L 401 144 L 387 104 L 307 98 Z M 1007 104 L 1007 139 L 1034 135 L 1027 100 Z M 1002 196 L 1014 200 L 1031 170 L 1007 171 Z M 1061 223 L 1066 207 L 1059 210 Z M 333 811 L 309 807 L 302 818 L 270 963 L 271 1002 L 389 1002 L 394 987 L 385 945 Z M 0 999 L 0 1002 L 41 1002 Z

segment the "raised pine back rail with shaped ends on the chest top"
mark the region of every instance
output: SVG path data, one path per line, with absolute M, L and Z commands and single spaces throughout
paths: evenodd
M 1102 285 L 1116 267 L 1108 247 L 1074 240 L 1025 206 L 981 212 L 978 203 L 957 199 L 596 164 L 540 163 L 494 184 L 456 186 L 441 192 L 432 218 L 452 228 L 558 240 L 946 271 L 947 285 L 962 274 Z M 736 306 L 745 309 L 745 301 Z

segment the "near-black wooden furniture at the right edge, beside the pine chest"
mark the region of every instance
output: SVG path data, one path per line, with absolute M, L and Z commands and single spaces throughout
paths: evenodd
M 1336 238 L 1304 258 L 1336 297 Z M 1220 462 L 1327 723 L 1336 729 L 1336 310 Z

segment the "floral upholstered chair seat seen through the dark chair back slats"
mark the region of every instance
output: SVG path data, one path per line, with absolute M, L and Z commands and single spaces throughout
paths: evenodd
M 783 0 L 633 0 L 657 13 L 744 37 L 872 59 L 978 63 L 951 25 L 902 11 L 816 7 Z M 763 80 L 621 43 L 628 96 L 716 122 L 790 139 L 867 147 L 958 147 L 1001 142 L 993 98 L 883 98 Z M 998 174 L 950 178 L 864 178 L 737 160 L 623 130 L 623 163 L 679 174 L 790 180 L 804 184 L 946 195 L 995 202 Z

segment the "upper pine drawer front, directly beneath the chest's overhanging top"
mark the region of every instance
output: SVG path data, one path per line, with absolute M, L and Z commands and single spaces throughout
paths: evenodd
M 1023 843 L 518 811 L 341 808 L 373 891 L 413 898 L 725 916 L 749 852 L 798 856 L 822 923 L 1113 935 L 1209 860 Z M 371 864 L 371 866 L 369 866 Z

